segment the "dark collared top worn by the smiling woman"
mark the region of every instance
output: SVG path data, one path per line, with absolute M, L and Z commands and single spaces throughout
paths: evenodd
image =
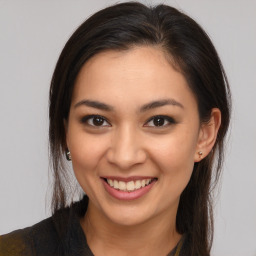
M 87 205 L 85 196 L 32 227 L 0 236 L 0 256 L 93 256 L 79 221 Z M 183 236 L 168 256 L 187 256 L 186 248 Z

